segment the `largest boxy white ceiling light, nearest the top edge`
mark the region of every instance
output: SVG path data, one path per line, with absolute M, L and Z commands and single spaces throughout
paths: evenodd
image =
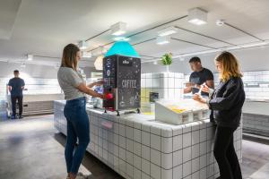
M 207 23 L 207 12 L 200 8 L 188 10 L 187 21 L 195 25 Z

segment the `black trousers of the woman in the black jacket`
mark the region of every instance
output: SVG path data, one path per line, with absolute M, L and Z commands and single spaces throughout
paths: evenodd
M 214 157 L 216 158 L 221 179 L 242 179 L 239 159 L 233 146 L 233 132 L 236 129 L 217 126 L 214 141 Z

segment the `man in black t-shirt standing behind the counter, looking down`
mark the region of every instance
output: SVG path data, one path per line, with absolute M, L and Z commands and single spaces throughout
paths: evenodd
M 193 94 L 195 94 L 199 91 L 202 84 L 205 84 L 209 88 L 213 89 L 214 88 L 213 72 L 202 66 L 200 58 L 197 56 L 192 57 L 189 60 L 189 64 L 194 72 L 192 72 L 189 77 L 189 82 L 187 82 L 186 84 L 184 93 L 192 92 Z M 208 96 L 208 93 L 202 91 L 201 95 Z

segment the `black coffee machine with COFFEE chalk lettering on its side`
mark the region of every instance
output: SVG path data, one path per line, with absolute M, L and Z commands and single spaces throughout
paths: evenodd
M 141 60 L 138 57 L 109 55 L 103 59 L 103 107 L 109 111 L 140 110 Z

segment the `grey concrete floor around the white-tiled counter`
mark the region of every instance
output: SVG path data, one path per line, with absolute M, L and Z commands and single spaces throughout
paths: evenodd
M 65 136 L 53 127 L 53 115 L 0 123 L 1 179 L 65 179 Z M 243 141 L 242 173 L 246 179 L 269 178 L 269 145 Z M 81 171 L 92 179 L 121 178 L 87 153 Z

